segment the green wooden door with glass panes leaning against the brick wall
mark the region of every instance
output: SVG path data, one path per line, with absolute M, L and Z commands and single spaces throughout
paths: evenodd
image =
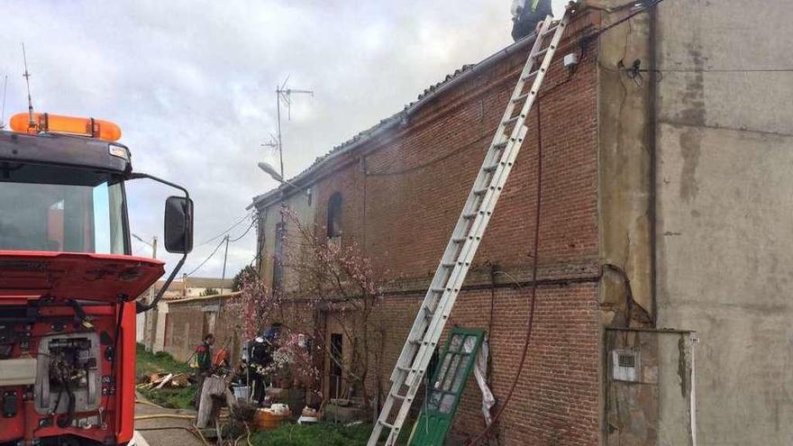
M 484 330 L 454 328 L 427 388 L 410 446 L 442 446 L 457 412 L 462 391 L 477 362 Z

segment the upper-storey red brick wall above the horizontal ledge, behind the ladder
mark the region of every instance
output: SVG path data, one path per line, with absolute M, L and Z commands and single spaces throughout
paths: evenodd
M 409 125 L 377 146 L 330 167 L 331 175 L 316 186 L 316 222 L 324 226 L 327 201 L 341 192 L 343 238 L 361 243 L 376 270 L 386 278 L 431 276 L 524 58 L 521 52 L 501 61 L 424 107 Z M 561 57 L 543 86 L 544 263 L 597 258 L 595 86 L 591 61 L 585 60 L 570 77 Z M 479 248 L 478 264 L 531 265 L 536 109 L 527 123 L 529 136 Z

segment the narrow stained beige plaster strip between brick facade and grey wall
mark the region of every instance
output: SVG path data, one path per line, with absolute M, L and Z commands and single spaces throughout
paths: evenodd
M 623 0 L 600 2 L 624 5 Z M 630 11 L 602 14 L 602 27 L 621 20 Z M 606 269 L 600 285 L 603 322 L 626 326 L 629 321 L 652 318 L 652 190 L 649 113 L 651 88 L 633 82 L 621 69 L 650 53 L 648 15 L 615 26 L 597 40 L 598 103 L 598 228 L 600 259 Z M 627 293 L 626 279 L 632 294 Z M 633 297 L 633 314 L 628 300 Z

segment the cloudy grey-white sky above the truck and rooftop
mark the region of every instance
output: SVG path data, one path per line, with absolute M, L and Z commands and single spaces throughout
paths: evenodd
M 288 77 L 292 119 L 283 121 L 287 177 L 334 145 L 394 114 L 430 86 L 512 39 L 511 0 L 272 0 L 194 2 L 4 1 L 0 80 L 5 119 L 26 110 L 21 42 L 37 111 L 119 123 L 135 170 L 189 188 L 196 249 L 246 214 L 277 184 L 259 161 L 276 130 L 275 88 Z M 565 0 L 554 0 L 557 11 Z M 128 187 L 132 232 L 161 240 L 167 187 Z M 236 238 L 248 227 L 232 229 Z M 160 249 L 160 258 L 175 257 Z M 133 241 L 133 252 L 150 248 Z M 255 255 L 254 231 L 229 248 L 227 276 Z M 196 276 L 220 277 L 223 250 Z

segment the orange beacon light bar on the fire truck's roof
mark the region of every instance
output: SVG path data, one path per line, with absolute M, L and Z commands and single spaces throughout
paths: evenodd
M 110 121 L 94 118 L 46 113 L 34 113 L 31 116 L 20 113 L 11 117 L 10 124 L 11 130 L 21 133 L 67 133 L 105 141 L 118 141 L 121 138 L 121 127 Z

